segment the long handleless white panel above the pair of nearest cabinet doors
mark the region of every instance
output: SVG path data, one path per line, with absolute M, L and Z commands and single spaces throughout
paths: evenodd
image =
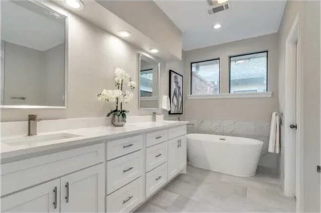
M 1 165 L 1 196 L 105 160 L 105 144 L 69 149 Z

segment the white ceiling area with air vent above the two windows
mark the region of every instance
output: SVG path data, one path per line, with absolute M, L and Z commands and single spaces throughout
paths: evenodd
M 154 0 L 183 31 L 183 50 L 278 31 L 285 0 L 230 0 L 230 8 L 209 14 L 207 0 Z M 216 23 L 222 25 L 214 29 Z

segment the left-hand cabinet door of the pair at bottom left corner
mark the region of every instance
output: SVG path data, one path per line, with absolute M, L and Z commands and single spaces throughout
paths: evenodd
M 1 198 L 1 212 L 59 212 L 59 179 Z

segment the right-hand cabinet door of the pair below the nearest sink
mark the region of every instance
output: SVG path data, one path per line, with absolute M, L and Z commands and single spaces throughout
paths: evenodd
M 103 212 L 104 172 L 100 163 L 61 177 L 61 212 Z

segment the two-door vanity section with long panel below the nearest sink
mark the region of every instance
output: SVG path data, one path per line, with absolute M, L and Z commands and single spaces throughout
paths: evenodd
M 99 143 L 2 164 L 1 212 L 104 212 L 104 157 Z

